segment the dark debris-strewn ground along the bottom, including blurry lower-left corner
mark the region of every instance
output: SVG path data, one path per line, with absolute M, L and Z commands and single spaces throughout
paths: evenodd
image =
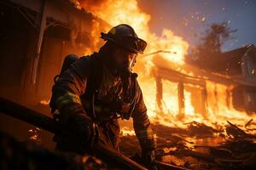
M 227 123 L 224 131 L 191 122 L 186 129 L 153 124 L 157 136 L 156 159 L 189 169 L 255 169 L 256 137 Z M 34 129 L 37 130 L 37 129 Z M 28 142 L 0 135 L 1 169 L 108 169 L 94 156 L 78 156 L 44 149 L 32 133 Z M 34 137 L 34 139 L 33 139 Z M 36 141 L 36 142 L 32 142 Z M 218 142 L 216 142 L 218 141 Z M 37 144 L 38 143 L 38 144 Z M 136 136 L 121 138 L 126 156 L 139 153 Z

